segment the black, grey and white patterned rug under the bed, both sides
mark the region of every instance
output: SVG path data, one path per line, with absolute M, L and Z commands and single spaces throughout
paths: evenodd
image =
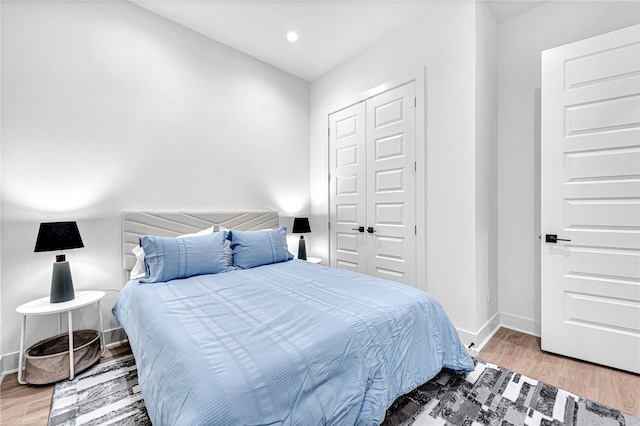
M 151 425 L 132 355 L 55 386 L 49 426 Z M 383 426 L 640 426 L 640 419 L 476 360 L 466 375 L 441 371 L 398 398 Z

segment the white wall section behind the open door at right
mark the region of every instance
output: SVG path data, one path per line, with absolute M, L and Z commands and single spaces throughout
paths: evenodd
M 548 2 L 499 26 L 501 321 L 540 333 L 540 54 L 637 24 L 640 3 Z

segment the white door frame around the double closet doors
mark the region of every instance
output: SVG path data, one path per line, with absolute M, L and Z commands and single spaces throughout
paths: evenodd
M 329 116 L 333 113 L 349 108 L 359 102 L 366 101 L 379 94 L 403 86 L 410 82 L 416 84 L 416 287 L 423 291 L 428 291 L 427 283 L 427 263 L 420 262 L 420 259 L 426 259 L 427 254 L 427 67 L 417 67 L 412 72 L 406 74 L 398 74 L 396 78 L 392 78 L 382 82 L 373 88 L 361 92 L 352 97 L 347 97 L 341 101 L 330 105 L 326 109 L 325 132 L 329 128 Z M 329 182 L 329 135 L 325 133 L 325 161 L 327 167 L 324 170 L 325 182 Z M 330 188 L 327 186 L 326 194 L 327 202 L 327 219 L 331 217 L 330 204 Z M 328 261 L 330 263 L 331 256 L 331 230 L 329 229 L 329 220 L 327 220 L 327 249 Z

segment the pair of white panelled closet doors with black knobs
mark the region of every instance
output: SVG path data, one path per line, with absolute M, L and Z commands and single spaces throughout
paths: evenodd
M 329 115 L 330 264 L 416 286 L 415 83 Z

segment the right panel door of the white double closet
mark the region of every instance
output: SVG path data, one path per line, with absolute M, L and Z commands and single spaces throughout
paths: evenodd
M 367 100 L 367 273 L 416 285 L 415 83 Z M 371 232 L 373 231 L 373 232 Z

